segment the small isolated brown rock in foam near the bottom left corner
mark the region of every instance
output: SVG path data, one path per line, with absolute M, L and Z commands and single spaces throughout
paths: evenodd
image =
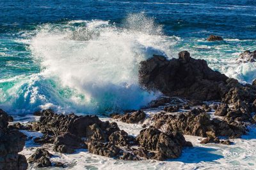
M 37 167 L 49 167 L 52 166 L 52 163 L 50 161 L 50 158 L 53 155 L 49 153 L 47 150 L 38 148 L 36 149 L 36 152 L 29 157 L 28 162 L 29 163 L 37 163 Z

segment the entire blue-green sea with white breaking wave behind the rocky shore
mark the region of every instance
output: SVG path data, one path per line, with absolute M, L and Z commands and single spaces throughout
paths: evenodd
M 138 109 L 158 94 L 138 86 L 153 53 L 188 50 L 221 73 L 252 83 L 255 1 L 0 1 L 0 107 L 102 113 Z M 210 34 L 225 41 L 207 42 Z

